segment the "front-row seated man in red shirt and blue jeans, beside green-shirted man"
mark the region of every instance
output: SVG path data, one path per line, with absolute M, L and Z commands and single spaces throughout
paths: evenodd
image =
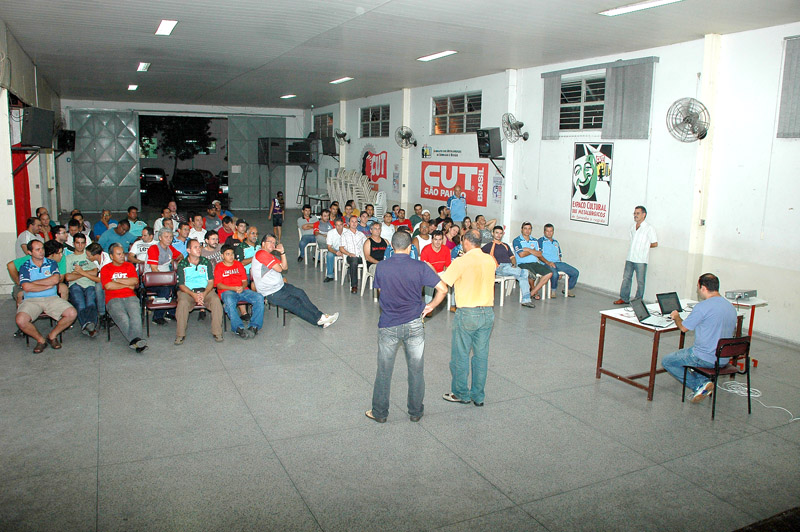
M 225 313 L 231 320 L 231 329 L 242 338 L 252 338 L 264 326 L 264 296 L 253 292 L 247 285 L 247 272 L 241 262 L 236 260 L 233 246 L 222 246 L 222 262 L 214 268 L 214 285 L 222 299 Z M 250 326 L 245 330 L 237 305 L 246 303 L 253 306 Z

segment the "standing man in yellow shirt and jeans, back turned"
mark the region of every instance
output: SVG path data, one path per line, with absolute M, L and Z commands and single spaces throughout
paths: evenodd
M 481 251 L 481 234 L 467 231 L 461 245 L 464 255 L 440 274 L 448 286 L 455 286 L 456 310 L 450 352 L 450 393 L 442 396 L 451 403 L 483 406 L 486 372 L 489 367 L 489 336 L 494 327 L 494 270 L 491 255 Z M 472 351 L 472 386 L 469 385 Z

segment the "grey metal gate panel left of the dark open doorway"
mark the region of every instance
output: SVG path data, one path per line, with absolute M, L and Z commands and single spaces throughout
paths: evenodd
M 85 211 L 141 207 L 139 120 L 132 111 L 70 111 L 73 201 Z

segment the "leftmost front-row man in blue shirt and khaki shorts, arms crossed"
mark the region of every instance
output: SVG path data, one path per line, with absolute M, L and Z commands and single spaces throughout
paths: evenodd
M 19 269 L 19 284 L 25 297 L 17 308 L 17 327 L 36 340 L 34 353 L 41 353 L 48 344 L 53 349 L 61 349 L 58 335 L 75 321 L 78 312 L 58 296 L 57 286 L 61 282 L 61 274 L 58 273 L 58 264 L 45 258 L 44 244 L 31 240 L 28 242 L 28 249 L 30 260 L 24 262 Z M 42 313 L 57 320 L 47 338 L 33 324 Z

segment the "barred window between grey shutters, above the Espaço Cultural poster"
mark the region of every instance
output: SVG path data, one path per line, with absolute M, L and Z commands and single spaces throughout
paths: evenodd
M 591 76 L 561 81 L 561 131 L 603 128 L 606 78 Z

